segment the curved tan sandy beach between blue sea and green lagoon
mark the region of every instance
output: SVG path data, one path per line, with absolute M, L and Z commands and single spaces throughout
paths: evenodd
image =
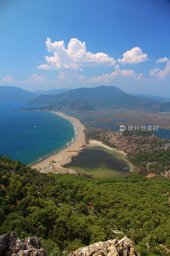
M 42 170 L 41 172 L 53 172 L 53 173 L 74 173 L 76 174 L 77 172 L 73 169 L 70 168 L 63 168 L 62 166 L 64 164 L 67 164 L 71 161 L 72 156 L 77 156 L 79 151 L 82 150 L 86 145 L 85 143 L 85 134 L 84 134 L 84 125 L 80 123 L 80 121 L 72 116 L 67 116 L 61 112 L 54 112 L 51 111 L 59 116 L 63 116 L 71 121 L 74 122 L 74 124 L 77 126 L 78 128 L 78 137 L 77 139 L 73 142 L 73 144 L 70 145 L 70 147 L 64 149 L 63 151 L 55 154 L 54 156 L 50 156 L 48 157 L 46 160 L 35 164 L 33 166 L 31 166 L 32 168 L 36 168 L 37 170 L 40 170 L 46 166 L 48 166 L 50 163 L 52 163 L 52 161 L 55 161 L 56 163 L 53 163 L 54 166 L 49 167 L 45 170 Z

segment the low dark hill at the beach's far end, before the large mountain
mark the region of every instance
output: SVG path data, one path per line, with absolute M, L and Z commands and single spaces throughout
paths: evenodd
M 22 108 L 22 110 L 45 110 L 45 111 L 56 111 L 56 110 L 95 110 L 91 105 L 89 105 L 84 100 L 77 100 L 74 102 L 69 102 L 67 100 L 62 100 L 57 103 L 37 108 Z

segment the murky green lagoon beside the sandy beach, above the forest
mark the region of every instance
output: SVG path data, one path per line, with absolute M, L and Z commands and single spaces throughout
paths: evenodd
M 85 147 L 64 167 L 89 178 L 123 177 L 135 168 L 122 153 L 100 145 Z

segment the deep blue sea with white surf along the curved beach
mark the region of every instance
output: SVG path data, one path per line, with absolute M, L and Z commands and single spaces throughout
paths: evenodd
M 77 137 L 74 123 L 51 112 L 10 112 L 37 107 L 0 102 L 0 155 L 32 164 L 67 148 Z

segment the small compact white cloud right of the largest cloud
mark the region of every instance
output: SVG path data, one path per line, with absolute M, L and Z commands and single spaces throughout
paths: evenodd
M 148 60 L 148 55 L 143 54 L 142 50 L 139 47 L 133 47 L 130 51 L 123 53 L 123 58 L 118 59 L 117 61 L 122 64 L 127 63 L 140 63 Z

